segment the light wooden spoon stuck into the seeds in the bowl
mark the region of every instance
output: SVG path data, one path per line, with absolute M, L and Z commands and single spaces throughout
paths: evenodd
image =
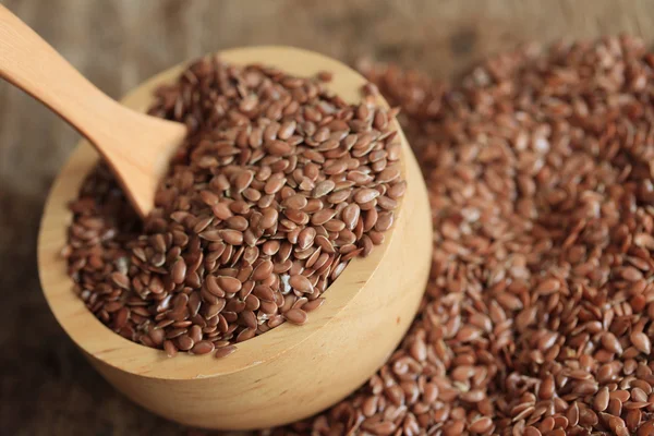
M 146 216 L 186 128 L 109 98 L 0 5 L 0 76 L 52 109 L 100 153 L 134 209 Z

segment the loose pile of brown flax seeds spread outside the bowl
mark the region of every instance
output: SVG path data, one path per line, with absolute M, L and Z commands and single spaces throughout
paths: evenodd
M 530 46 L 456 86 L 367 68 L 427 180 L 427 290 L 348 399 L 265 435 L 654 435 L 654 55 Z

